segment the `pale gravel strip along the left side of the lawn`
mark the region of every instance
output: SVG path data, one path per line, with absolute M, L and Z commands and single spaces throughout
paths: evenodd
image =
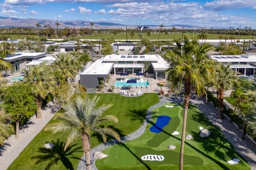
M 7 169 L 53 116 L 51 109 L 48 107 L 42 109 L 42 114 L 43 118 L 41 119 L 36 119 L 35 115 L 30 118 L 28 124 L 20 130 L 19 139 L 15 139 L 15 135 L 11 135 L 10 138 L 5 140 L 5 145 L 0 148 L 0 169 Z

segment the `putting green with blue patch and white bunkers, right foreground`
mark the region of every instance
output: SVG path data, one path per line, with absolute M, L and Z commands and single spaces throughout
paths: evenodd
M 165 107 L 173 105 L 173 108 Z M 148 122 L 145 133 L 141 137 L 103 150 L 108 157 L 97 160 L 99 170 L 103 169 L 179 169 L 179 151 L 183 120 L 182 104 L 165 104 L 153 110 L 153 118 Z M 170 116 L 170 122 L 163 131 L 154 133 L 150 128 L 156 123 L 158 116 Z M 133 114 L 134 117 L 138 115 Z M 199 137 L 199 127 L 211 131 L 208 138 Z M 159 127 L 159 126 L 158 126 Z M 172 135 L 174 131 L 179 135 Z M 249 164 L 230 145 L 223 133 L 210 123 L 208 118 L 195 106 L 190 105 L 187 118 L 186 135 L 194 139 L 186 140 L 183 169 L 250 169 Z M 174 150 L 167 146 L 174 145 Z M 142 160 L 145 155 L 162 155 L 163 161 Z M 238 158 L 240 162 L 230 165 L 228 160 Z

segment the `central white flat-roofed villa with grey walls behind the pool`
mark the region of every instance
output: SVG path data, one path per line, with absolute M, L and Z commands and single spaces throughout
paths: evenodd
M 146 74 L 156 80 L 166 78 L 165 71 L 170 65 L 160 55 L 116 55 L 111 54 L 95 61 L 84 72 L 80 74 L 80 83 L 86 88 L 96 88 L 100 80 L 106 81 L 109 74 L 134 75 L 143 74 L 144 64 L 149 62 L 150 66 Z

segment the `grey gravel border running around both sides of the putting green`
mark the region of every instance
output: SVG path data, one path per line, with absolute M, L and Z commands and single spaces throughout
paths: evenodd
M 239 152 L 241 156 L 249 162 L 251 165 L 252 170 L 256 170 L 256 145 L 253 143 L 248 137 L 245 137 L 245 139 L 241 139 L 242 137 L 242 131 L 237 128 L 236 125 L 231 123 L 227 117 L 225 117 L 223 120 L 219 120 L 217 118 L 218 115 L 218 108 L 215 108 L 212 104 L 205 104 L 204 103 L 205 98 L 193 98 L 190 99 L 190 103 L 195 104 L 205 115 L 209 117 L 209 120 L 225 134 L 228 141 L 236 148 L 236 150 Z M 176 99 L 168 99 L 168 100 L 161 100 L 160 103 L 151 106 L 147 112 L 147 120 L 151 118 L 151 110 L 155 107 L 161 106 L 167 102 L 175 102 L 175 103 L 182 103 L 181 98 Z M 127 135 L 126 137 L 122 138 L 122 141 L 129 141 L 135 138 L 138 138 L 146 128 L 147 121 L 145 121 L 142 126 L 135 132 L 133 132 L 130 135 Z M 102 151 L 103 149 L 114 145 L 116 141 L 110 141 L 106 144 L 101 144 L 91 150 L 91 158 L 96 151 Z M 79 162 L 79 165 L 77 167 L 78 170 L 85 169 L 85 157 L 82 157 L 82 160 Z M 92 169 L 96 170 L 97 167 L 95 166 L 95 161 L 92 162 Z

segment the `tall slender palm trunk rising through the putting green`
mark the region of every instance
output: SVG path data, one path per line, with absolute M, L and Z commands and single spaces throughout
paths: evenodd
M 190 79 L 189 78 L 185 79 L 184 87 L 185 87 L 185 99 L 184 99 L 184 114 L 183 114 L 181 145 L 180 145 L 180 170 L 183 169 L 185 134 L 186 134 L 186 125 L 187 125 L 188 104 L 189 104 L 189 98 L 190 98 Z

